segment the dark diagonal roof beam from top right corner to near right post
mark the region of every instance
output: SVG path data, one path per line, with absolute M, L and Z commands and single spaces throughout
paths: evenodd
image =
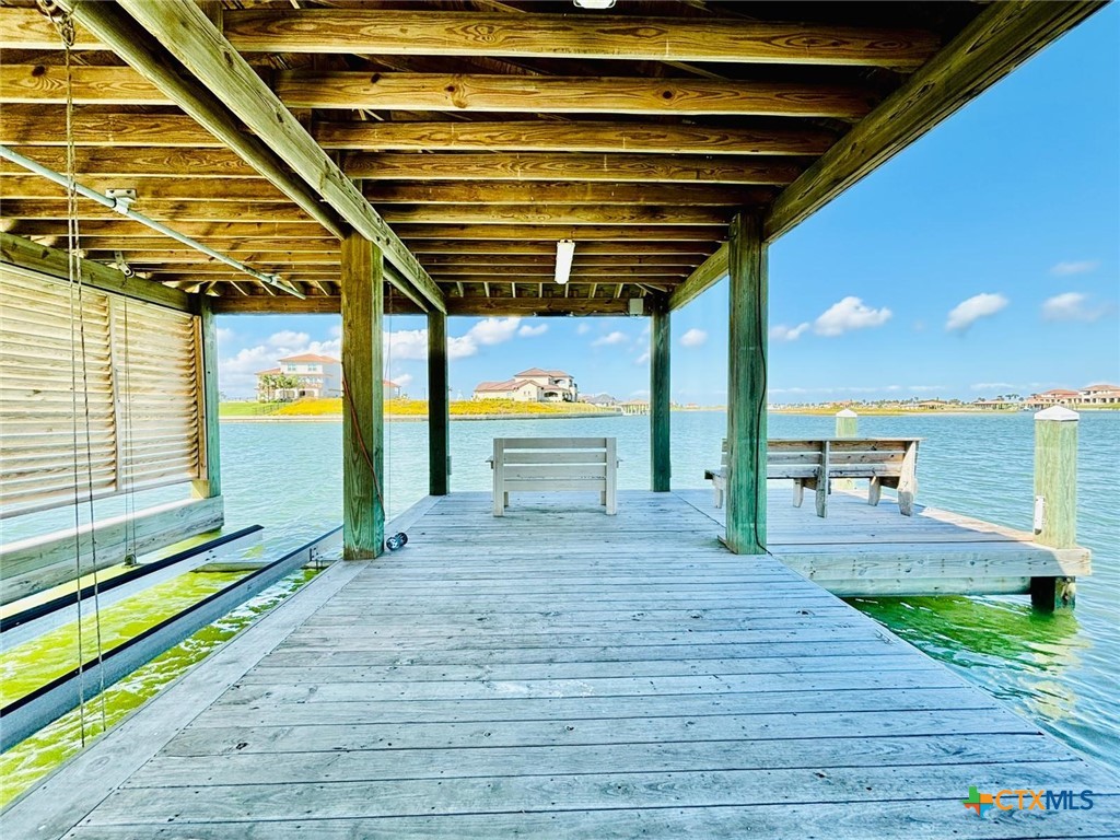
M 766 218 L 774 240 L 1104 3 L 992 3 L 787 187 Z

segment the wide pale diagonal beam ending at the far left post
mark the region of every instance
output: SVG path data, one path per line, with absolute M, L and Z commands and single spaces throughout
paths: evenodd
M 405 293 L 419 293 L 444 310 L 444 293 L 404 243 L 194 2 L 119 0 L 119 6 L 256 132 L 334 213 L 384 251 L 404 276 L 404 286 L 410 287 Z

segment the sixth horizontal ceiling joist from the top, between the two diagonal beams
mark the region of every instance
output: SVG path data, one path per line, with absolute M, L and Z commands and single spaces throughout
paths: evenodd
M 730 213 L 717 207 L 635 207 L 619 204 L 399 204 L 386 205 L 384 217 L 390 223 L 419 224 L 715 225 L 726 224 Z

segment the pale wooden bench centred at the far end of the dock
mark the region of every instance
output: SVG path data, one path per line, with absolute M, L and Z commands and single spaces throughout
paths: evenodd
M 596 491 L 607 514 L 617 511 L 615 438 L 494 438 L 494 515 L 519 491 Z

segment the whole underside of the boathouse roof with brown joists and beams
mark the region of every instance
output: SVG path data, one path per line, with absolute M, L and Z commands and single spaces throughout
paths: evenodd
M 90 259 L 215 311 L 337 311 L 355 230 L 384 250 L 390 311 L 676 307 L 726 272 L 736 213 L 780 236 L 1100 3 L 292 6 L 78 4 L 74 136 L 80 183 L 134 189 L 306 299 L 82 199 Z M 65 171 L 59 35 L 0 7 L 2 143 Z M 63 188 L 0 172 L 6 232 L 63 246 Z

